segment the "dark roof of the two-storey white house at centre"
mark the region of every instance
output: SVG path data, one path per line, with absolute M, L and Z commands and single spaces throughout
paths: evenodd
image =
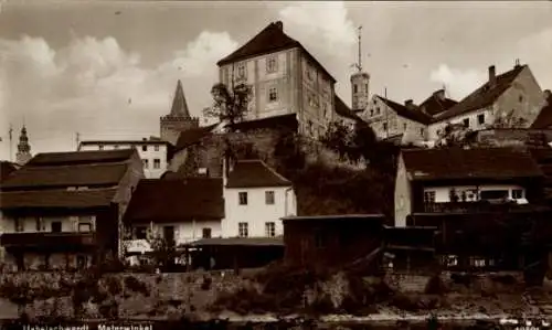
M 226 188 L 290 187 L 291 182 L 262 160 L 238 160 L 230 172 Z

